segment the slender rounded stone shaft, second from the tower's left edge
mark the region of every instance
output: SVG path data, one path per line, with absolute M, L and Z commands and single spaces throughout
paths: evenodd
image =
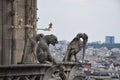
M 16 27 L 17 26 L 17 0 L 11 1 L 11 12 L 13 13 L 12 17 L 12 26 L 11 26 L 11 64 L 17 64 L 16 61 Z

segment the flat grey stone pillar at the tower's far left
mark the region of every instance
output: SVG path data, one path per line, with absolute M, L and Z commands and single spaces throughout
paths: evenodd
M 11 25 L 10 3 L 8 0 L 2 1 L 2 64 L 11 64 Z

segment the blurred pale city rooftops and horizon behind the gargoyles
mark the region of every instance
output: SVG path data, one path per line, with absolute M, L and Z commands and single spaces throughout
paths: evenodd
M 102 77 L 116 78 L 108 80 L 120 80 L 120 43 L 114 41 L 114 36 L 106 36 L 105 43 L 88 43 L 85 52 L 85 63 L 90 65 L 87 65 L 84 71 L 90 71 L 91 76 L 94 73 L 94 76 L 97 75 L 97 77 L 102 75 Z M 56 46 L 50 45 L 52 56 L 58 62 L 62 61 L 68 44 L 68 41 L 62 40 Z M 82 50 L 77 54 L 77 58 L 81 62 Z

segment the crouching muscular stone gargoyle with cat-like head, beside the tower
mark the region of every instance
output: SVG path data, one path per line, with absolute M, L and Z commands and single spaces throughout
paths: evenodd
M 51 35 L 43 35 L 41 39 L 39 40 L 38 47 L 37 47 L 37 57 L 38 61 L 40 63 L 47 63 L 47 62 L 53 62 L 56 63 L 56 60 L 52 57 L 49 45 L 52 44 L 55 46 L 55 44 L 58 43 L 57 37 L 53 34 Z

